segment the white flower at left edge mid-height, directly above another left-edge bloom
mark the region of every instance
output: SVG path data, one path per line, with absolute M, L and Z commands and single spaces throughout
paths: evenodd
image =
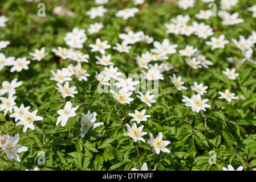
M 19 86 L 21 86 L 23 84 L 22 81 L 17 82 L 17 80 L 18 80 L 18 78 L 14 78 L 13 80 L 11 80 L 11 82 L 3 81 L 2 82 L 3 88 L 0 89 L 0 96 L 3 96 L 6 93 L 14 95 L 16 93 L 15 88 L 18 88 Z

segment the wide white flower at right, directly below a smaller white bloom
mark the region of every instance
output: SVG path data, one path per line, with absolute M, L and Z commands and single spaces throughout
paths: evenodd
M 210 105 L 205 104 L 205 102 L 208 102 L 209 100 L 201 100 L 200 94 L 193 94 L 191 98 L 183 96 L 183 98 L 182 102 L 186 102 L 185 106 L 191 107 L 191 109 L 196 111 L 196 113 L 199 113 L 200 110 L 206 111 L 205 107 L 210 107 Z

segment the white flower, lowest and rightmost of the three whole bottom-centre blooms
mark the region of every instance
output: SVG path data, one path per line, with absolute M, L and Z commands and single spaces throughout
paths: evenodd
M 148 140 L 148 143 L 153 146 L 156 154 L 159 154 L 160 151 L 170 153 L 170 150 L 166 148 L 168 144 L 170 143 L 168 140 L 162 140 L 162 133 L 159 132 L 157 135 L 156 139 L 153 138 L 153 135 L 150 133 L 149 134 L 150 140 Z

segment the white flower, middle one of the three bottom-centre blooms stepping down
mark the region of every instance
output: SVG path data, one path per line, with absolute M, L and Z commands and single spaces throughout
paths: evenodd
M 131 137 L 134 142 L 137 142 L 137 140 L 141 140 L 141 141 L 145 142 L 145 140 L 142 138 L 142 136 L 146 135 L 147 132 L 142 132 L 142 129 L 144 127 L 143 125 L 141 125 L 138 128 L 136 126 L 136 123 L 132 124 L 132 128 L 127 123 L 125 125 L 127 126 L 128 133 L 124 133 L 123 134 L 124 136 Z

